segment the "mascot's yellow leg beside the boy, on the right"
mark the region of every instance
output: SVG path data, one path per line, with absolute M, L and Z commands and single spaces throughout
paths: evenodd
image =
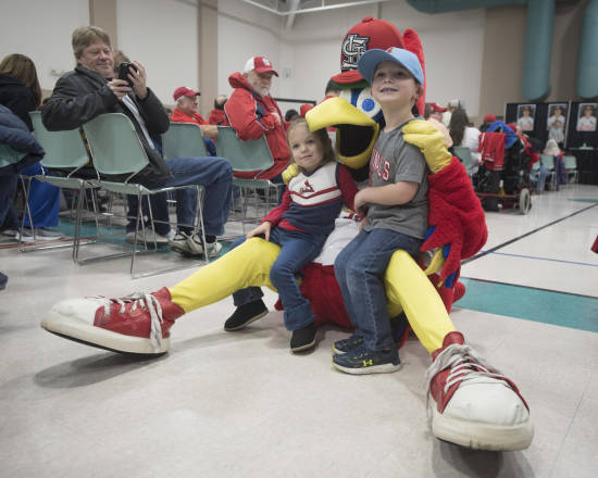
M 400 312 L 400 304 L 426 350 L 432 354 L 441 349 L 445 336 L 456 329 L 440 295 L 408 252 L 393 254 L 384 281 L 391 316 Z

